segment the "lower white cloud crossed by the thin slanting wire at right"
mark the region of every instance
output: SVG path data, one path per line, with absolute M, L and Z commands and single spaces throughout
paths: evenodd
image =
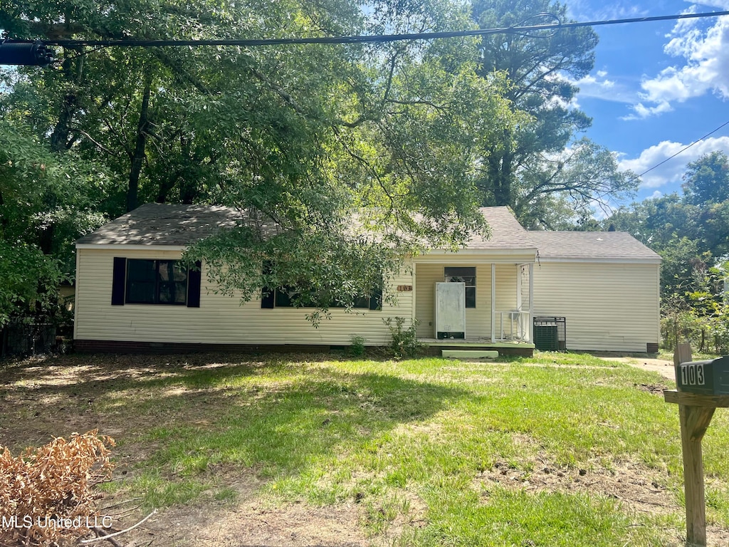
M 638 158 L 632 160 L 621 159 L 618 162 L 618 167 L 622 171 L 630 169 L 635 174 L 641 174 L 653 166 L 657 166 L 660 162 L 670 158 L 685 147 L 687 147 L 687 144 L 662 141 L 655 146 L 643 150 Z M 663 163 L 662 166 L 652 169 L 650 173 L 644 174 L 642 176 L 641 187 L 659 188 L 671 182 L 680 182 L 686 170 L 687 163 L 698 160 L 701 156 L 716 150 L 722 150 L 729 154 L 729 136 L 704 139 L 698 142 L 685 152 L 681 152 L 676 158 L 672 158 L 666 163 Z

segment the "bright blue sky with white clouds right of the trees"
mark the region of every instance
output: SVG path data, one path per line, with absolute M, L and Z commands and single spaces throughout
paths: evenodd
M 729 10 L 729 0 L 566 0 L 578 21 Z M 576 104 L 590 139 L 641 174 L 729 122 L 729 17 L 598 26 L 595 67 Z M 642 177 L 638 199 L 680 190 L 686 164 L 729 154 L 729 125 Z

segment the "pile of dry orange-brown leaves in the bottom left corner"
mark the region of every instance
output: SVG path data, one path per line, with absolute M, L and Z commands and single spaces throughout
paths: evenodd
M 52 546 L 101 526 L 94 486 L 110 478 L 114 439 L 98 430 L 13 457 L 0 447 L 0 547 Z

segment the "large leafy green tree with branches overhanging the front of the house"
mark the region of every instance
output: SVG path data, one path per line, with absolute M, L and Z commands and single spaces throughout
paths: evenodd
M 466 26 L 457 2 L 10 0 L 12 36 L 322 36 Z M 69 48 L 23 69 L 3 108 L 54 153 L 98 163 L 99 209 L 224 203 L 236 230 L 190 250 L 223 290 L 297 287 L 321 306 L 371 292 L 396 255 L 484 230 L 476 144 L 510 131 L 477 42 L 241 48 Z M 353 225 L 353 218 L 358 220 Z M 378 232 L 373 234 L 373 232 Z M 304 283 L 303 280 L 307 280 Z

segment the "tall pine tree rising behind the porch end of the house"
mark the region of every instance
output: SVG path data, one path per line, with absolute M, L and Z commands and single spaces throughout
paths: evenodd
M 472 18 L 481 28 L 568 21 L 566 6 L 552 0 L 475 0 Z M 637 181 L 617 171 L 608 150 L 587 139 L 571 144 L 590 126 L 571 106 L 578 90 L 572 81 L 592 69 L 597 40 L 586 27 L 484 36 L 479 74 L 505 74 L 505 97 L 521 115 L 483 143 L 478 187 L 485 205 L 511 206 L 534 228 L 562 228 L 634 190 Z

